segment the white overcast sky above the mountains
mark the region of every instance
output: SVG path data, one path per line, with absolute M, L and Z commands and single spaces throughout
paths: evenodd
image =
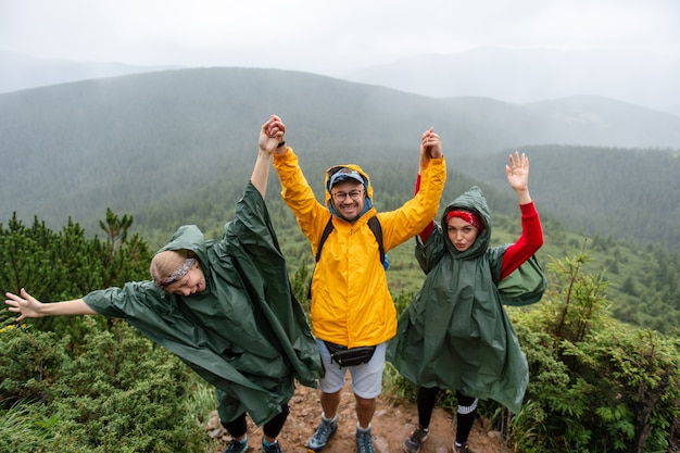
M 310 72 L 480 46 L 680 58 L 678 0 L 0 0 L 0 50 Z

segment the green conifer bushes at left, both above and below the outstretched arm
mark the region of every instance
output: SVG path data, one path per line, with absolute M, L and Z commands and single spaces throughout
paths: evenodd
M 146 279 L 150 253 L 130 225 L 108 210 L 102 240 L 71 222 L 53 232 L 14 216 L 0 224 L 0 285 L 47 302 Z M 14 317 L 0 313 L 0 452 L 207 451 L 197 377 L 168 351 L 121 319 Z

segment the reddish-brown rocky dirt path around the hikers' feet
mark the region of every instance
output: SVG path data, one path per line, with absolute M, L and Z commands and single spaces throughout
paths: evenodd
M 290 415 L 279 437 L 284 453 L 306 453 L 306 443 L 314 433 L 320 417 L 318 390 L 299 386 L 290 401 Z M 350 385 L 345 385 L 342 402 L 338 415 L 338 431 L 331 438 L 324 453 L 353 453 L 356 452 L 354 432 L 356 415 L 354 412 L 354 395 Z M 249 420 L 250 421 L 250 420 Z M 416 406 L 408 402 L 392 402 L 381 397 L 378 399 L 376 413 L 373 418 L 374 445 L 377 453 L 400 453 L 406 436 L 417 423 Z M 216 415 L 209 424 L 209 433 L 213 438 L 222 438 L 222 449 L 229 441 L 229 436 L 221 429 Z M 260 451 L 262 429 L 250 423 L 248 437 L 250 446 L 248 453 Z M 452 453 L 454 441 L 452 417 L 441 408 L 437 408 L 430 424 L 430 436 L 423 444 L 420 453 Z M 498 431 L 491 431 L 478 420 L 469 438 L 470 448 L 475 453 L 505 453 Z M 221 450 L 216 451 L 218 453 Z

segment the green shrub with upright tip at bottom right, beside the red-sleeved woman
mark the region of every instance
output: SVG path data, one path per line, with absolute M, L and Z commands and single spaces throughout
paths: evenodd
M 615 320 L 604 278 L 582 273 L 587 261 L 581 252 L 551 263 L 550 294 L 514 312 L 530 383 L 508 443 L 518 452 L 666 451 L 680 415 L 680 342 Z

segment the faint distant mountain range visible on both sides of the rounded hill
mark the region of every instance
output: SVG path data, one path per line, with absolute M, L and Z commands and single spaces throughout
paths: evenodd
M 187 67 L 36 59 L 0 51 L 0 92 L 171 68 Z M 482 47 L 318 75 L 433 98 L 530 103 L 596 96 L 680 116 L 680 59 L 645 51 Z

